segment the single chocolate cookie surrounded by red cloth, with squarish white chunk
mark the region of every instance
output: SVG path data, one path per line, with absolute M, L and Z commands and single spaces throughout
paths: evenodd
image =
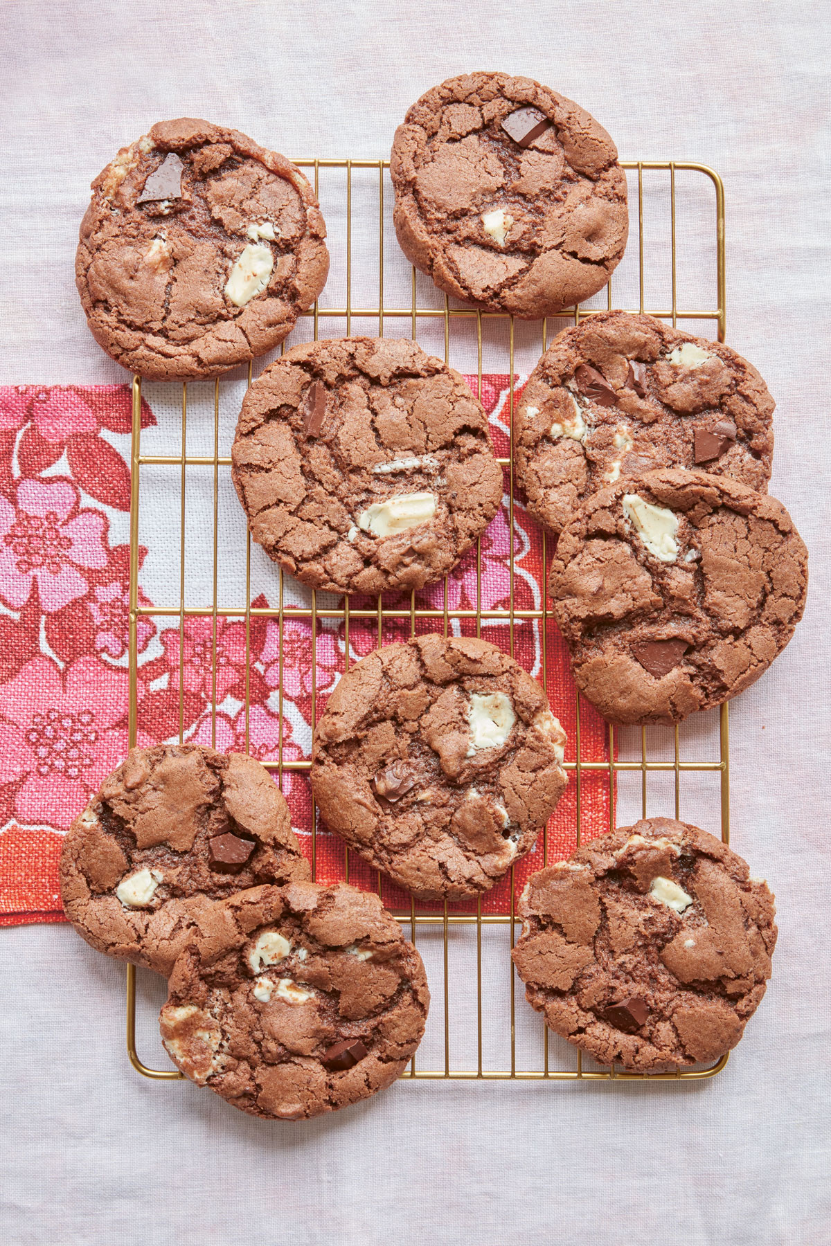
M 326 825 L 419 900 L 487 891 L 528 852 L 567 784 L 546 694 L 486 640 L 421 635 L 370 653 L 318 720 Z

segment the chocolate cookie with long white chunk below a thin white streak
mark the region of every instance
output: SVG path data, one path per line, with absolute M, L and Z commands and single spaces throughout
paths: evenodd
M 245 394 L 232 461 L 254 541 L 335 593 L 440 579 L 502 501 L 481 404 L 404 338 L 288 350 Z

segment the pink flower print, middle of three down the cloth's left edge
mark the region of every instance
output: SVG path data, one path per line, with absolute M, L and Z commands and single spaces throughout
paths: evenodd
M 22 480 L 17 508 L 0 497 L 0 597 L 20 609 L 32 581 L 47 614 L 60 611 L 88 584 L 80 568 L 107 566 L 107 517 L 78 510 L 80 493 L 67 480 Z

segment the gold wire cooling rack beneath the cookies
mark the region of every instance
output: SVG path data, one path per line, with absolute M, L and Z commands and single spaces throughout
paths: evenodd
M 480 394 L 481 394 L 481 380 L 482 380 L 482 324 L 487 320 L 505 320 L 508 323 L 508 359 L 507 359 L 507 371 L 510 376 L 510 394 L 507 404 L 508 422 L 512 426 L 513 419 L 513 402 L 515 402 L 515 323 L 513 316 L 501 313 L 487 313 L 477 312 L 467 308 L 451 308 L 447 298 L 444 299 L 444 308 L 421 308 L 416 304 L 416 272 L 412 269 L 412 283 L 411 283 L 411 305 L 409 308 L 404 307 L 385 307 L 384 303 L 384 242 L 385 242 L 385 188 L 384 188 L 384 173 L 389 169 L 389 161 L 350 161 L 350 159 L 297 159 L 295 164 L 309 168 L 314 171 L 314 188 L 315 193 L 319 191 L 319 179 L 321 169 L 344 169 L 346 173 L 346 300 L 343 308 L 319 308 L 318 304 L 304 314 L 304 319 L 313 320 L 314 338 L 318 338 L 319 324 L 321 318 L 339 318 L 345 320 L 346 335 L 351 334 L 351 321 L 353 318 L 361 319 L 375 319 L 378 320 L 378 335 L 384 335 L 384 323 L 386 319 L 409 319 L 410 331 L 414 339 L 417 338 L 419 321 L 427 319 L 440 319 L 444 321 L 444 334 L 445 334 L 445 359 L 450 360 L 451 353 L 451 326 L 457 320 L 473 320 L 476 323 L 477 333 L 477 353 L 478 353 L 478 381 L 480 381 Z M 622 310 L 628 312 L 647 312 L 650 315 L 655 315 L 663 319 L 672 319 L 673 325 L 677 324 L 678 319 L 696 319 L 696 320 L 714 320 L 716 323 L 718 340 L 724 341 L 725 336 L 725 255 L 724 255 L 724 188 L 721 179 L 713 169 L 704 164 L 696 163 L 681 163 L 672 161 L 622 161 L 622 167 L 629 171 L 637 171 L 638 178 L 638 263 L 639 263 L 639 307 L 637 308 L 624 308 Z M 355 308 L 351 305 L 351 268 L 353 268 L 353 243 L 351 243 L 351 223 L 353 223 L 353 171 L 354 169 L 375 169 L 378 171 L 378 194 L 379 194 L 379 288 L 378 288 L 378 307 L 374 308 Z M 669 173 L 670 183 L 670 263 L 672 263 L 672 307 L 669 308 L 650 308 L 644 305 L 644 172 L 645 171 L 660 171 Z M 681 309 L 678 307 L 677 302 L 677 212 L 675 212 L 675 174 L 677 172 L 694 172 L 700 173 L 703 177 L 708 178 L 713 187 L 715 188 L 715 255 L 716 255 L 716 307 L 715 308 L 699 308 L 699 309 Z M 634 239 L 630 240 L 632 247 Z M 607 287 L 607 307 L 613 308 L 612 302 L 612 282 Z M 577 324 L 582 319 L 591 316 L 601 309 L 587 309 L 587 308 L 574 308 L 563 315 L 568 315 Z M 604 309 L 603 309 L 604 310 Z M 548 339 L 548 325 L 547 320 L 541 321 L 541 345 L 542 350 L 546 349 Z M 252 368 L 248 369 L 248 383 L 252 380 Z M 250 657 L 250 621 L 253 617 L 263 616 L 274 618 L 278 621 L 279 627 L 279 663 L 280 663 L 280 713 L 279 713 L 279 730 L 282 739 L 283 728 L 283 693 L 282 693 L 282 673 L 283 673 L 283 624 L 285 619 L 306 619 L 311 625 L 311 728 L 314 730 L 315 725 L 315 711 L 316 711 L 316 635 L 318 635 L 318 619 L 338 619 L 344 624 L 345 632 L 345 664 L 349 667 L 349 627 L 350 621 L 374 621 L 378 624 L 378 643 L 381 644 L 382 627 L 384 622 L 387 619 L 409 619 L 410 632 L 415 634 L 416 621 L 429 619 L 435 629 L 441 629 L 445 635 L 449 633 L 450 622 L 452 619 L 475 619 L 476 621 L 476 634 L 481 633 L 482 622 L 490 622 L 492 619 L 502 619 L 508 624 L 510 645 L 511 653 L 513 653 L 513 632 L 516 621 L 532 619 L 541 625 L 542 630 L 542 678 L 543 685 L 546 685 L 546 673 L 548 662 L 548 639 L 552 627 L 551 613 L 548 608 L 548 597 L 544 588 L 544 578 L 547 577 L 548 569 L 548 548 L 546 542 L 546 535 L 542 537 L 542 551 L 543 551 L 543 584 L 542 584 L 542 608 L 541 609 L 518 609 L 513 607 L 513 540 L 511 541 L 510 552 L 510 577 L 511 577 L 511 606 L 510 609 L 482 609 L 481 607 L 481 541 L 477 547 L 477 608 L 475 611 L 463 609 L 449 609 L 447 606 L 447 582 L 445 581 L 445 594 L 444 594 L 444 609 L 436 608 L 417 608 L 416 607 L 416 594 L 411 594 L 409 608 L 385 608 L 382 604 L 382 598 L 378 598 L 378 607 L 373 609 L 366 608 L 351 608 L 349 597 L 343 599 L 343 604 L 336 609 L 319 608 L 316 604 L 316 593 L 311 592 L 311 604 L 310 607 L 297 607 L 297 606 L 284 606 L 284 573 L 283 571 L 277 572 L 279 576 L 279 604 L 277 607 L 252 607 L 252 594 L 250 594 L 250 535 L 247 537 L 245 546 L 245 602 L 238 607 L 218 607 L 217 604 L 217 569 L 219 558 L 219 536 L 218 536 L 218 496 L 219 496 L 219 471 L 228 470 L 230 466 L 230 459 L 219 455 L 219 391 L 221 381 L 214 383 L 214 422 L 213 422 L 213 455 L 188 455 L 187 454 L 187 416 L 188 416 L 188 392 L 187 383 L 182 385 L 182 441 L 181 452 L 178 455 L 145 455 L 142 454 L 141 446 L 141 378 L 136 376 L 132 385 L 132 455 L 131 455 L 131 513 L 130 513 L 130 745 L 131 748 L 136 743 L 137 733 L 137 674 L 138 674 L 138 649 L 137 649 L 137 621 L 142 616 L 153 617 L 173 617 L 179 621 L 179 643 L 183 638 L 184 619 L 189 616 L 209 617 L 213 619 L 213 698 L 212 698 L 212 736 L 216 735 L 216 714 L 217 714 L 217 619 L 223 617 L 232 617 L 243 619 L 245 624 L 245 657 L 247 657 L 247 674 L 245 674 L 245 745 L 248 746 L 248 711 L 249 711 L 249 657 Z M 508 527 L 513 535 L 513 447 L 511 441 L 511 451 L 507 459 L 501 459 L 500 462 L 508 467 L 510 470 L 510 506 L 508 506 Z M 179 483 L 181 483 L 181 558 L 179 558 L 179 604 L 178 607 L 143 607 L 138 604 L 138 517 L 140 517 L 140 500 L 141 500 L 141 468 L 145 466 L 168 466 L 171 468 L 178 468 Z M 184 528 L 186 528 L 186 488 L 188 480 L 188 470 L 194 468 L 209 468 L 213 471 L 213 601 L 207 606 L 186 606 L 184 603 L 184 571 L 186 571 L 186 557 L 184 557 Z M 240 512 L 242 521 L 242 512 Z M 182 645 L 181 645 L 182 648 Z M 184 729 L 184 694 L 183 694 L 183 668 L 179 670 L 179 738 Z M 579 844 L 581 836 L 581 786 L 582 776 L 584 774 L 601 771 L 608 775 L 608 790 L 609 790 L 609 829 L 614 827 L 614 810 L 615 810 L 615 779 L 620 773 L 639 773 L 640 786 L 642 786 L 642 807 L 643 816 L 647 815 L 647 780 L 653 773 L 669 771 L 674 775 L 674 804 L 675 804 L 675 817 L 679 816 L 679 804 L 681 792 L 681 775 L 686 775 L 695 771 L 711 771 L 718 773 L 720 782 L 720 820 L 721 820 L 721 837 L 725 842 L 729 840 L 730 830 L 730 805 L 729 805 L 729 784 L 730 784 L 730 759 L 729 759 L 729 719 L 728 719 L 728 706 L 724 704 L 720 709 L 719 719 L 719 745 L 718 745 L 718 760 L 710 761 L 681 761 L 680 756 L 680 743 L 679 743 L 679 728 L 674 729 L 674 758 L 669 760 L 650 760 L 648 749 L 648 731 L 653 729 L 642 728 L 640 729 L 640 760 L 619 760 L 615 751 L 615 730 L 613 726 L 608 726 L 608 760 L 583 760 L 581 758 L 581 703 L 579 697 L 576 694 L 576 715 L 577 715 L 577 731 L 576 731 L 576 744 L 577 744 L 577 758 L 574 761 L 566 763 L 566 769 L 573 771 L 574 784 L 576 784 L 576 799 L 577 799 L 577 842 Z M 287 770 L 309 770 L 310 763 L 308 760 L 288 760 L 283 759 L 282 754 L 278 761 L 265 763 L 265 765 L 277 771 L 278 781 L 282 784 L 283 773 Z M 311 870 L 313 877 L 316 865 L 316 809 L 313 809 L 313 831 L 311 831 Z M 543 860 L 548 860 L 548 836 L 547 829 L 543 831 Z M 614 1067 L 594 1070 L 583 1068 L 583 1058 L 579 1050 L 574 1052 L 571 1049 L 576 1058 L 576 1068 L 562 1069 L 551 1067 L 549 1052 L 548 1052 L 548 1030 L 544 1029 L 543 1039 L 543 1060 L 541 1068 L 523 1069 L 517 1068 L 517 1055 L 516 1055 L 516 1033 L 515 1033 L 515 1019 L 516 1019 L 516 974 L 512 963 L 508 957 L 510 947 L 513 947 L 515 933 L 517 926 L 517 918 L 515 916 L 515 867 L 511 867 L 511 903 L 508 913 L 482 913 L 482 901 L 481 897 L 477 901 L 476 913 L 458 913 L 453 912 L 453 906 L 449 906 L 447 902 L 444 903 L 441 908 L 431 912 L 416 912 L 415 905 L 411 903 L 409 912 L 396 912 L 395 916 L 404 923 L 405 928 L 409 928 L 410 937 L 414 942 L 417 942 L 419 931 L 425 926 L 437 927 L 442 932 L 444 939 L 444 1028 L 445 1028 L 445 1042 L 444 1042 L 444 1067 L 440 1068 L 421 1068 L 417 1063 L 417 1055 L 410 1063 L 409 1069 L 402 1074 L 404 1079 L 465 1079 L 465 1080 L 487 1080 L 487 1079 L 512 1079 L 512 1080 L 578 1080 L 578 1082 L 659 1082 L 659 1080 L 700 1080 L 703 1078 L 714 1077 L 719 1073 L 728 1062 L 728 1055 L 725 1054 L 709 1068 L 705 1069 L 685 1069 L 677 1070 L 674 1073 L 659 1073 L 659 1074 L 640 1074 L 640 1073 L 627 1073 L 624 1070 L 615 1069 Z M 344 850 L 344 878 L 349 880 L 349 850 Z M 380 875 L 379 875 L 379 891 L 380 891 Z M 506 972 L 510 972 L 510 1035 L 506 1040 L 506 1047 L 510 1049 L 510 1057 L 503 1063 L 507 1068 L 491 1069 L 483 1067 L 482 1058 L 482 928 L 483 926 L 496 925 L 506 927 L 507 941 L 505 949 L 505 967 Z M 476 1068 L 453 1068 L 451 1062 L 451 1043 L 450 1043 L 450 991 L 449 991 L 449 957 L 450 957 L 450 932 L 451 930 L 458 928 L 466 932 L 467 937 L 475 937 L 476 939 L 476 964 L 477 964 L 477 1064 Z M 434 984 L 435 986 L 435 984 Z M 442 989 L 440 988 L 440 989 Z M 434 991 L 434 996 L 437 992 Z M 542 1020 L 541 1020 L 542 1024 Z M 174 1080 L 181 1079 L 182 1074 L 177 1069 L 153 1069 L 146 1065 L 140 1058 L 136 1049 L 136 968 L 132 964 L 127 966 L 127 1052 L 133 1068 L 141 1073 L 143 1077 L 162 1080 Z

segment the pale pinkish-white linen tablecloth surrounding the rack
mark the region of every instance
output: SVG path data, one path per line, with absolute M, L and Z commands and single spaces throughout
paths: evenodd
M 795 639 L 730 713 L 731 845 L 776 892 L 780 943 L 723 1074 L 399 1083 L 330 1120 L 263 1126 L 130 1069 L 122 966 L 62 926 L 5 930 L 4 1239 L 827 1242 L 827 7 L 7 0 L 2 19 L 0 384 L 125 380 L 86 330 L 72 259 L 92 176 L 157 118 L 222 121 L 289 156 L 376 158 L 444 77 L 526 72 L 584 105 L 623 158 L 694 159 L 724 177 L 728 341 L 777 401 L 771 492 L 811 554 Z M 709 745 L 713 724 L 701 731 Z M 649 814 L 670 811 L 655 792 Z M 622 791 L 618 821 L 638 806 Z M 715 809 L 701 806 L 708 829 Z M 500 1011 L 502 986 L 486 983 Z M 150 1060 L 162 1059 L 162 998 L 142 974 Z

